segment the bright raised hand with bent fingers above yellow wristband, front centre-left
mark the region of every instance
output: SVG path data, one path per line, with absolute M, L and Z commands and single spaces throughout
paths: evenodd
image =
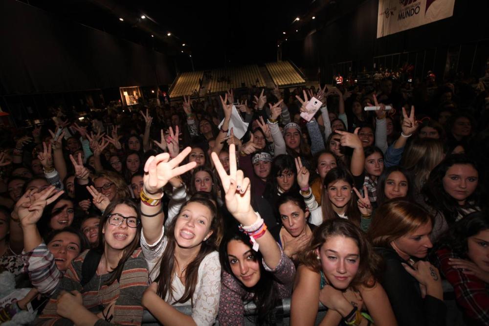
M 156 195 L 161 198 L 163 196 L 161 188 L 168 183 L 168 180 L 195 168 L 197 166 L 196 162 L 178 166 L 191 150 L 190 147 L 187 147 L 172 160 L 170 160 L 170 154 L 168 153 L 150 156 L 144 165 L 144 192 L 148 195 Z

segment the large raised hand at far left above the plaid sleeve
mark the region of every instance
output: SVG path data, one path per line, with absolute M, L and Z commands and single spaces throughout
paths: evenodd
M 28 190 L 15 204 L 15 211 L 22 228 L 35 225 L 43 216 L 44 208 L 64 193 L 64 191 L 57 192 L 54 186 L 49 186 L 37 194 L 34 194 L 35 191 Z

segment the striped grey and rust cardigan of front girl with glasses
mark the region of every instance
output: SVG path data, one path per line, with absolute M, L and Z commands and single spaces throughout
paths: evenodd
M 58 290 L 44 308 L 38 318 L 37 325 L 71 325 L 72 322 L 56 313 L 59 292 L 77 290 L 82 294 L 83 305 L 98 316 L 95 325 L 141 325 L 143 307 L 141 298 L 148 287 L 148 267 L 140 249 L 137 249 L 124 264 L 120 281 L 115 280 L 110 285 L 104 283 L 111 274 L 93 275 L 89 283 L 82 287 L 82 264 L 88 250 L 71 262 L 65 276 L 61 279 Z

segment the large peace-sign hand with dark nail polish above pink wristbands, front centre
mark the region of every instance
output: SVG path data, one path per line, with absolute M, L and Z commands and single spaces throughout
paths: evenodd
M 250 183 L 249 179 L 244 177 L 243 171 L 237 170 L 235 146 L 229 146 L 229 174 L 222 167 L 219 156 L 215 152 L 211 153 L 211 157 L 226 193 L 227 210 L 241 224 L 252 225 L 257 217 L 250 204 Z

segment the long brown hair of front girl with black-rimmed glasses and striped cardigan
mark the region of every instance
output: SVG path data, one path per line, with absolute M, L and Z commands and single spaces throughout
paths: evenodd
M 105 249 L 105 239 L 102 230 L 105 224 L 108 223 L 109 214 L 111 214 L 114 211 L 115 207 L 117 207 L 118 205 L 127 205 L 131 207 L 134 210 L 134 212 L 136 212 L 136 217 L 138 219 L 141 219 L 139 210 L 137 209 L 136 204 L 134 204 L 134 202 L 131 199 L 119 198 L 119 199 L 112 200 L 109 206 L 107 206 L 107 208 L 105 209 L 102 218 L 100 219 L 100 225 L 98 229 L 98 247 L 95 249 L 100 254 L 104 253 L 104 249 Z M 141 238 L 141 227 L 142 227 L 141 223 L 139 223 L 139 225 L 136 228 L 136 236 L 134 237 L 133 241 L 131 241 L 131 243 L 128 244 L 126 248 L 124 248 L 124 253 L 122 254 L 122 258 L 119 260 L 117 267 L 115 267 L 115 269 L 111 272 L 112 275 L 110 279 L 107 280 L 105 285 L 110 285 L 115 280 L 120 279 L 122 270 L 124 269 L 124 264 L 129 259 L 129 257 L 133 254 L 134 250 L 136 250 L 139 247 L 139 240 Z

